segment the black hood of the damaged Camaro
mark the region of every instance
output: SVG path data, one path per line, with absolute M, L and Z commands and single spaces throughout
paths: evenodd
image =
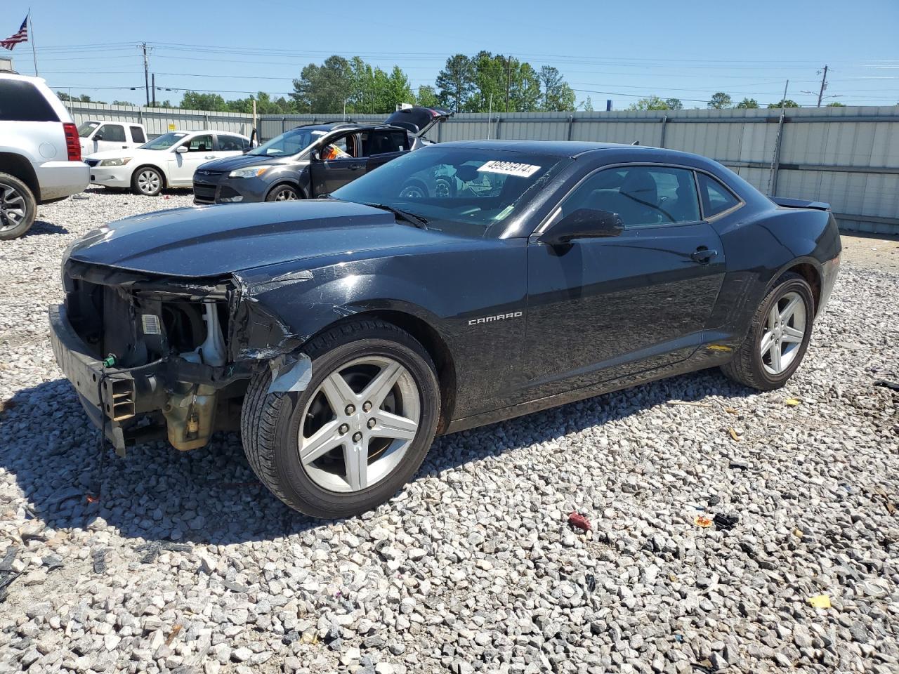
M 440 238 L 397 224 L 391 213 L 378 208 L 307 200 L 174 208 L 127 217 L 86 235 L 68 256 L 89 264 L 197 278 Z

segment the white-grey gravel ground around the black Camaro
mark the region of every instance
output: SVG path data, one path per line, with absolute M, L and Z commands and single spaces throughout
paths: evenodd
M 87 194 L 0 245 L 0 672 L 899 671 L 899 275 L 844 262 L 781 391 L 710 370 L 451 435 L 318 522 L 236 435 L 101 458 L 49 347 L 60 253 L 190 197 Z

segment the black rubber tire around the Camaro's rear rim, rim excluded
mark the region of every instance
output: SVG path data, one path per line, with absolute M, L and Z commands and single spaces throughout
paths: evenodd
M 789 364 L 777 375 L 771 374 L 765 367 L 761 355 L 761 339 L 766 332 L 766 321 L 771 307 L 778 303 L 789 293 L 797 293 L 805 304 L 806 324 L 802 341 L 797 346 L 797 353 Z M 773 391 L 787 383 L 788 379 L 796 372 L 803 357 L 806 355 L 808 342 L 812 335 L 814 324 L 814 297 L 812 288 L 806 279 L 796 273 L 784 274 L 771 288 L 768 295 L 761 300 L 759 308 L 752 316 L 752 325 L 743 344 L 734 352 L 734 358 L 721 370 L 725 375 L 740 384 L 757 388 L 760 391 Z

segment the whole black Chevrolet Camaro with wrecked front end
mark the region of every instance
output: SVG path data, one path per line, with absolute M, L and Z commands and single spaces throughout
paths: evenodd
M 120 454 L 239 428 L 271 492 L 332 518 L 386 501 L 438 433 L 715 366 L 782 386 L 840 251 L 826 205 L 697 155 L 445 143 L 331 199 L 104 226 L 50 323 Z

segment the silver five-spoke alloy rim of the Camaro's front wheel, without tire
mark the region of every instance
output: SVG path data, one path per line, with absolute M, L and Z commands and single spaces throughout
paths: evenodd
M 386 356 L 352 360 L 309 397 L 299 430 L 300 463 L 328 491 L 366 489 L 405 457 L 421 406 L 418 387 L 399 362 Z

